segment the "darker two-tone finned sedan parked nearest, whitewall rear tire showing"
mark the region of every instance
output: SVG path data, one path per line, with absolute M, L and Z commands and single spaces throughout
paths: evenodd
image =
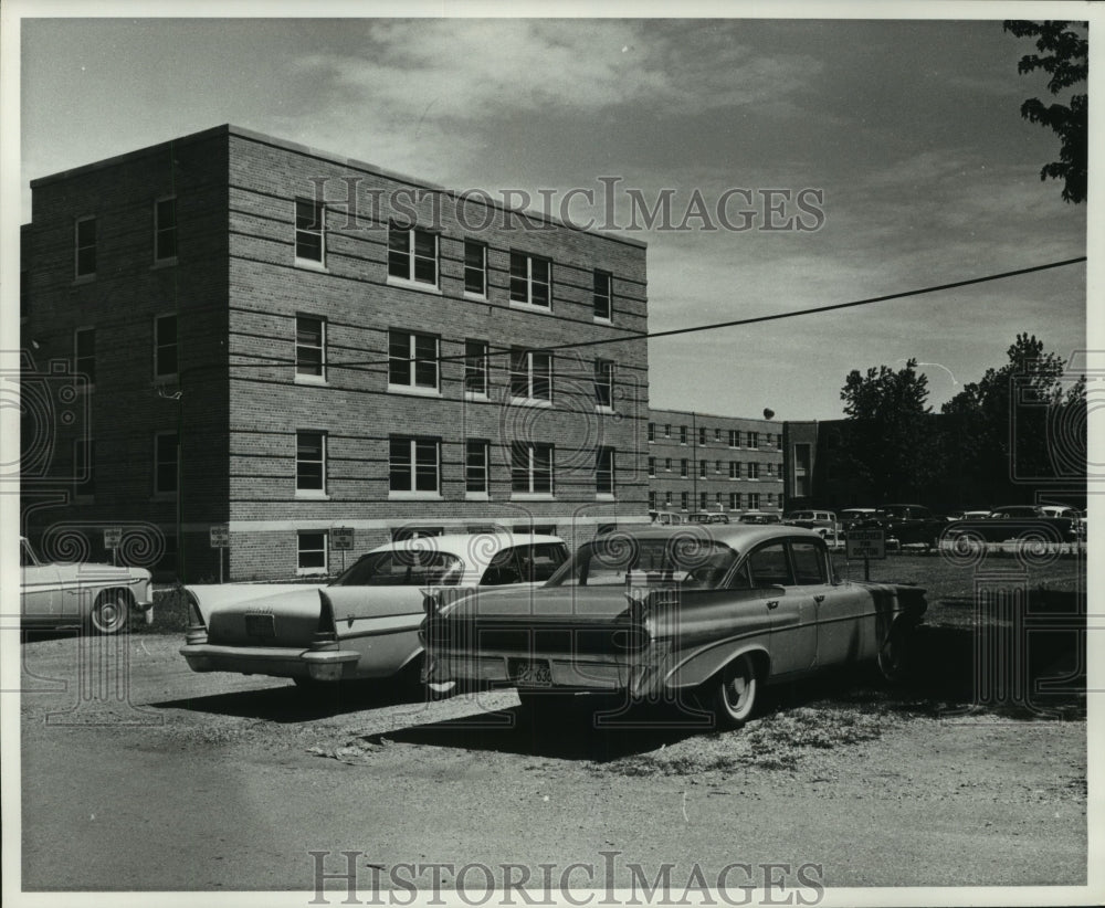
M 691 695 L 735 727 L 762 685 L 861 661 L 899 678 L 925 608 L 915 587 L 839 579 L 812 530 L 623 530 L 544 587 L 428 596 L 425 677 L 514 685 L 527 709 Z

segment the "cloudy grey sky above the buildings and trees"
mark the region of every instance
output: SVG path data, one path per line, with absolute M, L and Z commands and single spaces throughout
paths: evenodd
M 1084 255 L 1086 207 L 1039 178 L 1059 142 L 1020 117 L 1044 78 L 1018 75 L 1034 49 L 1002 32 L 1003 6 L 976 6 L 994 18 L 972 21 L 23 19 L 23 219 L 35 177 L 233 123 L 493 196 L 601 201 L 599 178 L 618 177 L 620 223 L 625 189 L 650 205 L 671 190 L 673 226 L 696 192 L 722 226 L 728 198 L 730 224 L 753 229 L 686 218 L 684 231 L 627 231 L 649 244 L 652 330 Z M 734 189 L 756 213 L 739 213 L 748 196 Z M 819 229 L 762 230 L 769 189 L 823 193 L 806 197 L 823 199 L 823 219 L 779 194 L 770 217 Z M 570 214 L 601 213 L 587 208 L 577 196 Z M 915 357 L 938 409 L 1019 331 L 1064 357 L 1084 349 L 1085 300 L 1075 265 L 657 338 L 652 402 L 833 419 L 851 369 Z

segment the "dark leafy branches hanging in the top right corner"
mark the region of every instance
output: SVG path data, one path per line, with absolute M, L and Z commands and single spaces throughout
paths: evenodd
M 1081 28 L 1082 34 L 1071 27 Z M 1025 54 L 1017 64 L 1021 75 L 1043 70 L 1051 78 L 1048 91 L 1057 95 L 1080 82 L 1085 82 L 1090 72 L 1090 42 L 1083 35 L 1086 22 L 1025 22 L 1008 20 L 1003 30 L 1017 38 L 1035 38 L 1038 54 Z M 1044 104 L 1040 98 L 1028 98 L 1021 105 L 1021 116 L 1030 123 L 1038 123 L 1052 129 L 1060 138 L 1059 160 L 1043 166 L 1040 179 L 1063 180 L 1063 201 L 1078 202 L 1086 198 L 1086 170 L 1088 161 L 1088 113 L 1087 93 L 1071 95 L 1070 104 Z

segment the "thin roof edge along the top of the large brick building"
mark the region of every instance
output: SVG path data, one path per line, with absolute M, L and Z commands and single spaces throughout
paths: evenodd
M 390 180 L 396 180 L 398 182 L 403 182 L 419 189 L 429 189 L 434 192 L 442 192 L 448 196 L 456 197 L 459 193 L 454 189 L 449 189 L 444 186 L 439 186 L 438 183 L 431 183 L 425 180 L 420 180 L 415 177 L 411 177 L 407 173 L 401 173 L 398 170 L 390 170 L 386 167 L 380 167 L 379 165 L 369 163 L 368 161 L 361 161 L 357 158 L 348 158 L 344 155 L 336 155 L 332 151 L 325 151 L 319 148 L 312 148 L 308 145 L 302 145 L 295 141 L 288 141 L 287 139 L 281 139 L 275 136 L 266 135 L 265 133 L 259 133 L 254 129 L 246 129 L 243 126 L 235 126 L 234 124 L 224 123 L 221 126 L 213 126 L 209 129 L 202 129 L 199 133 L 190 133 L 187 136 L 181 136 L 175 139 L 168 139 L 166 141 L 157 142 L 156 145 L 149 145 L 145 148 L 138 148 L 134 151 L 126 151 L 122 155 L 115 155 L 110 158 L 104 158 L 103 160 L 93 161 L 91 163 L 84 163 L 78 167 L 73 167 L 69 170 L 61 170 L 56 173 L 50 173 L 45 177 L 38 177 L 31 180 L 31 189 L 40 186 L 46 186 L 52 182 L 60 182 L 62 180 L 73 179 L 74 177 L 80 177 L 84 173 L 90 173 L 95 170 L 101 170 L 107 167 L 115 167 L 116 165 L 124 163 L 128 160 L 135 160 L 137 158 L 150 155 L 155 151 L 162 150 L 170 145 L 176 144 L 191 144 L 193 141 L 203 141 L 204 139 L 214 138 L 217 136 L 238 136 L 240 138 L 250 139 L 251 141 L 261 142 L 262 145 L 271 145 L 274 148 L 283 148 L 288 151 L 295 151 L 299 155 L 305 155 L 307 157 L 317 158 L 318 160 L 329 161 L 332 163 L 339 163 L 346 167 L 354 168 L 356 170 L 362 170 L 368 173 L 375 173 L 380 177 L 387 177 Z M 528 211 L 520 208 L 509 208 L 496 202 L 491 198 L 472 197 L 471 201 L 477 204 L 490 205 L 491 208 L 497 209 L 499 211 L 509 211 L 512 213 L 522 214 L 526 218 L 530 218 L 537 221 L 541 221 L 548 224 L 556 224 L 565 230 L 571 230 L 576 233 L 586 233 L 589 236 L 598 236 L 603 240 L 610 240 L 614 243 L 624 243 L 625 245 L 636 246 L 638 249 L 648 249 L 649 244 L 643 240 L 634 240 L 630 236 L 623 236 L 619 233 L 613 233 L 609 231 L 599 230 L 585 230 L 583 228 L 573 226 L 572 224 L 567 224 L 559 218 L 554 218 L 549 214 L 544 214 L 537 211 Z

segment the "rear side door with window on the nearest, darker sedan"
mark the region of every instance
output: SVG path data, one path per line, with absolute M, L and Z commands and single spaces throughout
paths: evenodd
M 810 669 L 817 659 L 817 602 L 810 590 L 796 583 L 788 540 L 753 549 L 747 566 L 770 615 L 771 674 Z

